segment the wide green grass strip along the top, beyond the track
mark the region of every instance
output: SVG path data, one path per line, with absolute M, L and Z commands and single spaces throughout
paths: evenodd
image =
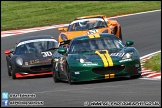
M 1 1 L 1 31 L 65 24 L 84 15 L 161 9 L 161 1 Z

